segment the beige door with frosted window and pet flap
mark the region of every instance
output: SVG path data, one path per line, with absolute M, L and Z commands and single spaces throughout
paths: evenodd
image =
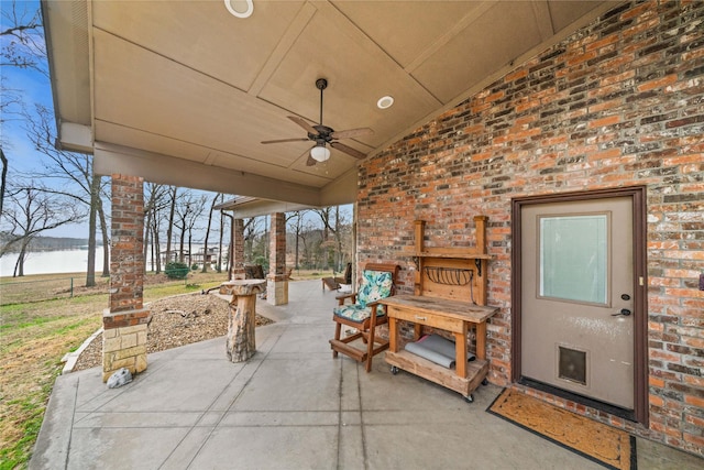
M 522 376 L 634 409 L 632 199 L 520 214 Z

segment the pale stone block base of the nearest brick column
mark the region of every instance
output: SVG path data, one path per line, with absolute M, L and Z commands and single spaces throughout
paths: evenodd
M 146 370 L 148 309 L 102 314 L 102 381 L 127 368 L 134 375 Z

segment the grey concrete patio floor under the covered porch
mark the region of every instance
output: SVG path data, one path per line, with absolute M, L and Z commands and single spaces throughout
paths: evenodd
M 56 381 L 31 469 L 602 469 L 405 372 L 332 359 L 334 292 L 289 283 L 289 304 L 257 300 L 276 324 L 257 353 L 229 362 L 224 338 L 148 356 L 108 389 L 100 369 Z M 644 439 L 639 469 L 701 469 L 704 460 Z

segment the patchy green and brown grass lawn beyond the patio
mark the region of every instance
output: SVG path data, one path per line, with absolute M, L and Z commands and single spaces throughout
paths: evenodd
M 329 275 L 332 273 L 294 271 L 292 277 Z M 56 295 L 61 298 L 36 302 L 43 286 L 72 276 L 73 297 L 62 289 Z M 147 274 L 144 303 L 213 287 L 224 280 L 227 274 L 216 272 L 191 271 L 186 282 Z M 98 277 L 96 282 L 97 287 L 80 287 L 85 274 L 0 277 L 0 470 L 26 467 L 54 381 L 63 368 L 62 358 L 102 326 L 102 311 L 109 306 L 108 280 Z

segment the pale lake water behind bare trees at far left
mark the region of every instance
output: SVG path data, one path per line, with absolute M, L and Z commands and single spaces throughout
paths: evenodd
M 0 258 L 0 275 L 11 276 L 16 253 Z M 56 250 L 30 253 L 24 261 L 24 274 L 85 273 L 88 271 L 88 250 Z M 102 247 L 96 248 L 96 273 L 102 272 Z

